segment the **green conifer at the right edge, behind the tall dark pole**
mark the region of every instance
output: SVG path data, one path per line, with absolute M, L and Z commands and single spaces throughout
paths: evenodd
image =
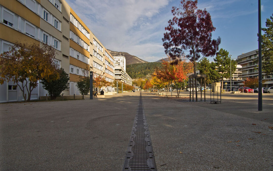
M 273 16 L 273 14 L 272 14 Z M 262 28 L 265 34 L 262 35 L 262 70 L 267 75 L 273 73 L 273 17 L 266 19 L 267 28 Z

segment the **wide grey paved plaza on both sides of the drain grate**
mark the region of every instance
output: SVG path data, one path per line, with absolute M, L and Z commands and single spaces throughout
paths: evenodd
M 173 92 L 176 93 L 176 92 Z M 187 95 L 188 92 L 182 92 Z M 158 170 L 273 170 L 273 95 L 142 93 Z M 0 104 L 0 170 L 122 170 L 140 92 Z

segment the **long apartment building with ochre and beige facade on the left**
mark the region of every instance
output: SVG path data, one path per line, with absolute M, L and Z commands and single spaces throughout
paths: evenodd
M 54 58 L 69 73 L 70 88 L 64 95 L 79 95 L 76 83 L 89 71 L 114 81 L 114 58 L 64 0 L 0 1 L 0 53 L 14 42 L 48 44 L 56 49 Z M 22 101 L 12 82 L 0 85 L 0 102 Z M 111 88 L 112 89 L 112 88 Z M 31 99 L 47 94 L 39 83 Z

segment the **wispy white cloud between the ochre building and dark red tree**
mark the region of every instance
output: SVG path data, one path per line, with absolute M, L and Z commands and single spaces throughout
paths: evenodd
M 148 61 L 148 56 L 156 58 L 154 54 L 164 54 L 161 38 L 164 27 L 172 16 L 170 10 L 168 15 L 161 10 L 169 1 L 67 0 L 70 7 L 106 48 L 125 51 Z M 153 41 L 156 43 L 152 43 Z M 162 55 L 158 58 L 161 59 Z

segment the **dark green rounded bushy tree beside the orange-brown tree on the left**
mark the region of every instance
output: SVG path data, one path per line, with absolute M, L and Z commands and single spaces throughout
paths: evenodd
M 46 79 L 42 79 L 41 83 L 43 84 L 43 88 L 48 91 L 48 94 L 51 100 L 56 99 L 56 97 L 60 96 L 61 92 L 65 89 L 69 88 L 69 76 L 64 71 L 63 68 L 57 69 L 60 78 L 57 80 L 50 79 L 49 81 Z M 56 77 L 54 75 L 54 77 Z

